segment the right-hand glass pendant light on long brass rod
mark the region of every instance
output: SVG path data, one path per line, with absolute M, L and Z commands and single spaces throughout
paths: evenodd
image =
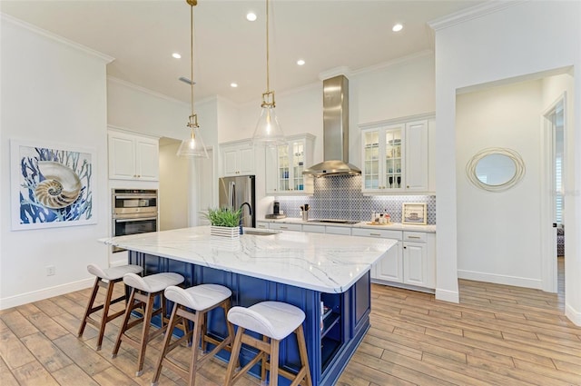
M 286 144 L 286 140 L 276 116 L 274 91 L 271 91 L 269 54 L 269 0 L 266 0 L 266 92 L 262 94 L 261 117 L 256 124 L 252 141 L 259 145 L 278 146 Z

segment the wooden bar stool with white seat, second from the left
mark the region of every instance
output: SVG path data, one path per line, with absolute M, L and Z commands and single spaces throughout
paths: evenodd
M 115 347 L 113 348 L 113 358 L 117 356 L 119 352 L 119 347 L 121 346 L 121 341 L 127 341 L 131 346 L 139 350 L 138 360 L 137 360 L 137 371 L 135 376 L 139 377 L 143 373 L 143 360 L 145 358 L 145 349 L 147 348 L 147 343 L 156 336 L 165 332 L 167 329 L 167 324 L 164 322 L 165 316 L 165 298 L 163 296 L 163 291 L 170 285 L 178 285 L 183 282 L 183 276 L 178 273 L 173 272 L 163 272 L 155 273 L 153 275 L 141 277 L 134 273 L 127 273 L 123 275 L 123 282 L 125 285 L 133 287 L 131 295 L 129 296 L 129 302 L 127 302 L 127 307 L 125 308 L 125 316 L 123 318 L 123 323 L 119 329 L 119 334 L 117 335 L 117 340 L 115 341 Z M 157 310 L 153 310 L 153 302 L 155 297 L 160 296 L 160 307 Z M 131 317 L 131 312 L 136 308 L 143 308 L 144 312 L 142 317 L 129 322 Z M 162 326 L 159 330 L 150 333 L 150 326 L 153 316 L 161 314 Z M 142 335 L 140 340 L 133 339 L 125 332 L 132 329 L 139 323 L 143 323 Z

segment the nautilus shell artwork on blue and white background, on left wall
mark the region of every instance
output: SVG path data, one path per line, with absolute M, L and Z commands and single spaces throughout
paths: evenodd
M 96 223 L 93 149 L 10 141 L 12 229 Z

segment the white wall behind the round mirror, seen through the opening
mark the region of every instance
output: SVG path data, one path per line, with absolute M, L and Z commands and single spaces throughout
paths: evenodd
M 456 99 L 458 277 L 542 288 L 540 242 L 541 81 L 488 88 Z M 503 147 L 522 157 L 527 173 L 505 192 L 468 181 L 479 151 Z

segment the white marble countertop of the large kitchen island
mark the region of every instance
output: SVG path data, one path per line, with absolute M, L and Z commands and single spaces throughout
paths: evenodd
M 320 292 L 345 292 L 397 240 L 280 232 L 211 236 L 209 226 L 100 239 L 127 250 Z

